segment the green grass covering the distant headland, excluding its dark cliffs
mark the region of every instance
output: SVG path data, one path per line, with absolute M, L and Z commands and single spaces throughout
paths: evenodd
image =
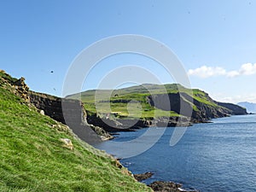
M 149 91 L 148 91 L 149 90 Z M 97 91 L 97 98 L 95 99 L 95 93 Z M 202 102 L 210 107 L 217 107 L 215 102 L 209 101 L 207 94 L 198 89 L 189 90 L 184 88 L 180 84 L 143 84 L 132 86 L 120 90 L 87 90 L 81 93 L 81 100 L 84 102 L 84 108 L 88 113 L 118 113 L 119 117 L 127 117 L 129 118 L 142 118 L 142 119 L 150 119 L 154 117 L 154 113 L 156 113 L 156 117 L 158 116 L 178 116 L 179 114 L 175 112 L 166 112 L 159 108 L 151 107 L 147 102 L 147 96 L 154 94 L 164 94 L 164 93 L 177 93 L 177 92 L 185 92 L 189 96 L 193 96 L 193 98 L 199 102 Z M 111 96 L 110 99 L 108 96 Z M 79 98 L 79 95 L 73 95 L 73 98 Z M 106 102 L 109 101 L 110 102 Z M 118 102 L 118 101 L 137 101 L 138 103 L 127 103 Z M 102 102 L 105 101 L 105 102 Z M 96 105 L 95 105 L 96 103 Z M 110 110 L 108 106 L 111 106 Z M 194 110 L 197 110 L 193 103 L 190 103 Z M 96 110 L 97 106 L 97 110 Z M 127 108 L 129 110 L 127 110 Z M 142 110 L 141 110 L 142 108 Z

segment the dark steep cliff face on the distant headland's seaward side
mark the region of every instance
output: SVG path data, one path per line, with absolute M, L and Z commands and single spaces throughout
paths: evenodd
M 159 94 L 148 96 L 147 98 L 151 106 L 166 111 L 172 110 L 183 116 L 191 115 L 192 121 L 204 121 L 212 118 L 226 117 L 232 114 L 247 114 L 245 108 L 232 103 L 215 102 L 207 94 L 204 95 L 207 103 L 200 102 L 184 92 L 169 93 L 168 96 Z

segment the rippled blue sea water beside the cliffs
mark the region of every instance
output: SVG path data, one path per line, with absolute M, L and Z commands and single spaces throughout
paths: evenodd
M 120 132 L 114 141 L 118 147 L 119 142 L 137 138 L 146 130 Z M 173 128 L 167 128 L 152 148 L 121 163 L 133 173 L 154 172 L 145 183 L 174 181 L 182 183 L 185 189 L 209 192 L 256 191 L 255 114 L 193 125 L 171 147 L 172 131 Z M 108 142 L 96 147 L 119 156 Z

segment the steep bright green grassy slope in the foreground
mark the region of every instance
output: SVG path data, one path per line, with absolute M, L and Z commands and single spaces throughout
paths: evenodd
M 107 154 L 22 102 L 0 82 L 0 191 L 150 191 Z

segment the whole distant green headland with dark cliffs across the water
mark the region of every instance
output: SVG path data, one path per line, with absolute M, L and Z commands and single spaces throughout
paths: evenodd
M 100 119 L 90 117 L 114 119 L 119 126 L 125 123 L 125 119 L 143 120 L 138 126 L 163 122 L 167 126 L 175 126 L 180 123 L 180 117 L 182 125 L 186 125 L 189 120 L 201 123 L 212 118 L 247 114 L 245 108 L 216 102 L 203 90 L 188 89 L 181 84 L 141 84 L 119 90 L 87 90 L 67 98 L 81 99 L 88 114 L 87 120 L 101 127 L 104 125 L 99 124 Z

